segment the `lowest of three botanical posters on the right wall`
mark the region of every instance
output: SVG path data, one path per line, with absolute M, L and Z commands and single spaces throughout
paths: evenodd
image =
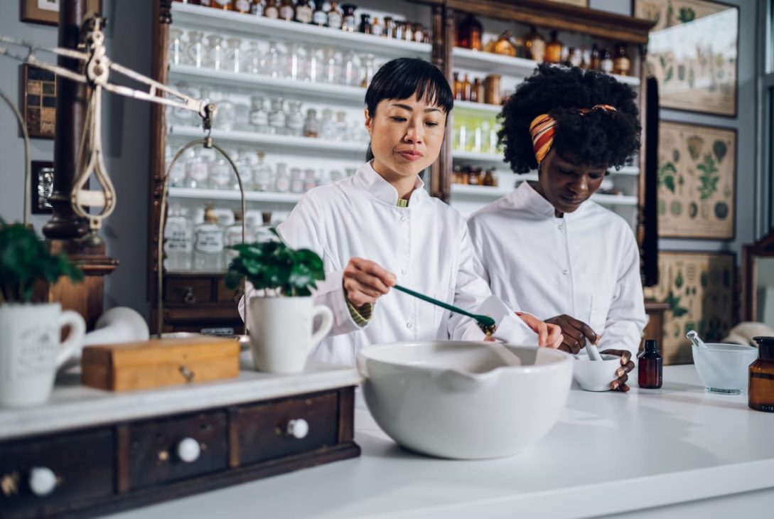
M 661 352 L 665 363 L 693 362 L 685 334 L 696 330 L 704 342 L 721 342 L 734 323 L 733 253 L 659 253 L 659 284 L 646 297 L 669 305 Z

